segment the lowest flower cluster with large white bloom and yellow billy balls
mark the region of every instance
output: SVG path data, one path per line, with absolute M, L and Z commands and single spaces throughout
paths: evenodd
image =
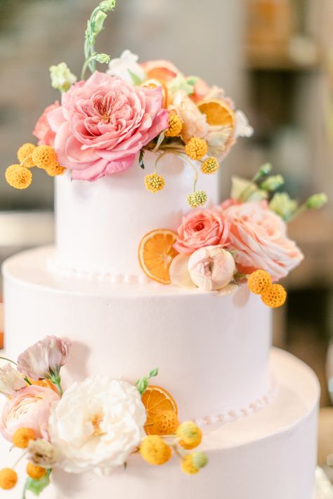
M 68 473 L 109 475 L 126 467 L 139 453 L 150 465 L 163 465 L 172 455 L 181 470 L 197 474 L 207 455 L 193 451 L 202 431 L 193 421 L 179 423 L 173 397 L 149 384 L 158 369 L 135 384 L 94 375 L 63 390 L 60 370 L 71 344 L 47 336 L 23 352 L 18 361 L 4 359 L 0 392 L 7 397 L 0 432 L 27 459 L 25 493 L 39 495 L 50 484 L 53 468 Z M 18 482 L 13 467 L 0 470 L 0 488 Z

